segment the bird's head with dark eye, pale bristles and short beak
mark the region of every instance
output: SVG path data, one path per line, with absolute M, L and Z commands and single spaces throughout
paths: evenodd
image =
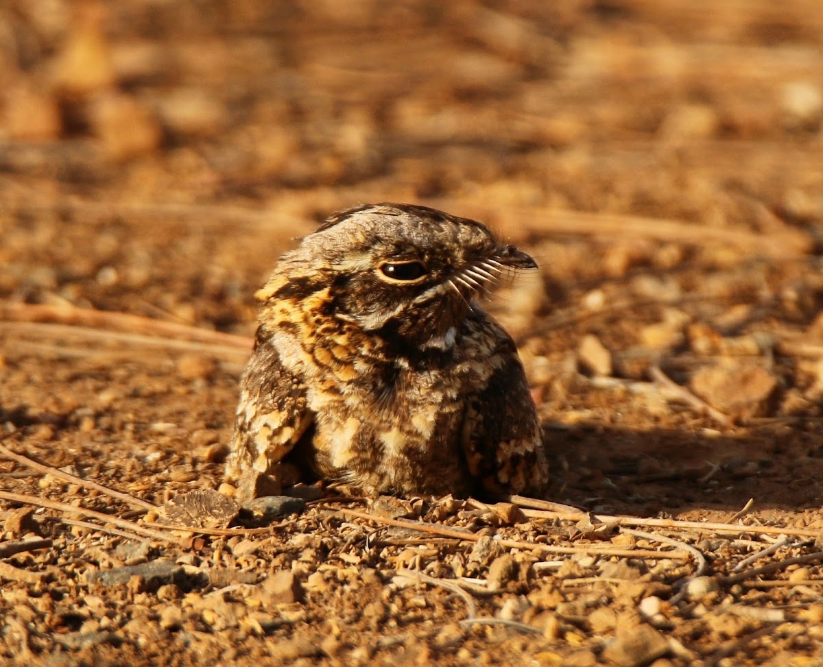
M 532 257 L 485 225 L 425 206 L 374 204 L 339 211 L 277 264 L 258 298 L 328 289 L 328 315 L 421 346 L 447 345 L 477 298 Z M 277 289 L 272 289 L 277 286 Z M 453 333 L 452 333 L 453 336 Z

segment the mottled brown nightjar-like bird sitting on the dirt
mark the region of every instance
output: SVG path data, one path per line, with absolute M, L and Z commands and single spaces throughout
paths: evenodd
M 330 215 L 255 293 L 227 479 L 291 462 L 366 495 L 542 493 L 523 364 L 482 303 L 536 267 L 481 222 L 426 206 Z

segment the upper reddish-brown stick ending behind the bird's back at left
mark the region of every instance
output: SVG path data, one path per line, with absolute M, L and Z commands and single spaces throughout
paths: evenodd
M 17 303 L 0 299 L 0 319 L 11 322 L 56 322 L 92 328 L 107 328 L 126 333 L 142 333 L 173 340 L 191 340 L 211 345 L 225 345 L 241 350 L 250 350 L 252 340 L 246 336 L 235 336 L 222 331 L 209 331 L 199 327 L 189 327 L 176 322 L 141 317 L 128 313 L 109 313 L 92 308 L 76 306 L 49 306 L 44 304 Z

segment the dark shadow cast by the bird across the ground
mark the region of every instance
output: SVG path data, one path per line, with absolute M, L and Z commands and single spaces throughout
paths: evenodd
M 805 438 L 803 436 L 806 436 Z M 631 516 L 819 509 L 823 447 L 794 437 L 618 428 L 546 430 L 552 480 L 545 498 Z

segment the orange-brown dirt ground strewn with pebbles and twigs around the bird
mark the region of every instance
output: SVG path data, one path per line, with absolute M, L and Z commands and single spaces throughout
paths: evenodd
M 0 4 L 2 445 L 56 469 L 0 458 L 0 661 L 823 665 L 821 49 L 815 0 Z M 490 308 L 589 514 L 162 527 L 215 503 L 254 290 L 365 201 L 537 258 Z

